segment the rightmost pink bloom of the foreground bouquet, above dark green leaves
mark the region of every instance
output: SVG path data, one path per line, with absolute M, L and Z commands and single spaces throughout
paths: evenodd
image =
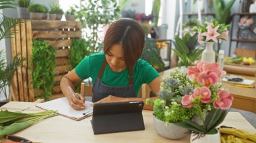
M 227 91 L 218 91 L 218 99 L 214 101 L 214 106 L 216 109 L 228 109 L 232 105 L 234 97 Z

